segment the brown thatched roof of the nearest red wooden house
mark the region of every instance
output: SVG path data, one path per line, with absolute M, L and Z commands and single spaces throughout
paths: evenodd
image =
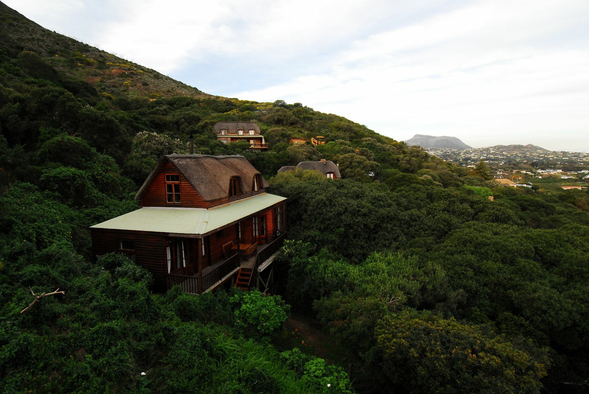
M 198 154 L 170 154 L 162 156 L 154 170 L 147 177 L 143 186 L 137 192 L 135 200 L 140 200 L 155 176 L 161 168 L 168 163 L 173 164 L 188 183 L 206 201 L 218 200 L 229 195 L 229 180 L 231 177 L 239 177 L 241 191 L 252 191 L 254 175 L 262 178 L 262 188 L 268 187 L 262 174 L 241 155 L 211 156 Z

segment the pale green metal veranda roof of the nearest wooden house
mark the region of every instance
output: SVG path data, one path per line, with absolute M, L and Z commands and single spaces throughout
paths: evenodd
M 210 209 L 144 207 L 95 224 L 90 228 L 206 236 L 214 230 L 236 223 L 241 218 L 284 200 L 286 197 L 264 193 Z

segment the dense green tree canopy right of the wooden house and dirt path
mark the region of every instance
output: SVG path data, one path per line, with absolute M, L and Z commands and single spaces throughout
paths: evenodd
M 271 187 L 299 240 L 283 250 L 286 299 L 383 390 L 583 390 L 587 212 L 532 190 L 303 177 Z

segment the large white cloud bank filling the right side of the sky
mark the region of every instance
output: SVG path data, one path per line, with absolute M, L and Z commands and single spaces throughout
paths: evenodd
M 587 149 L 588 42 L 544 42 L 587 23 L 586 11 L 573 1 L 479 2 L 355 41 L 324 74 L 230 96 L 303 102 L 400 140 L 446 134 L 479 146 Z M 560 140 L 565 131 L 577 141 Z

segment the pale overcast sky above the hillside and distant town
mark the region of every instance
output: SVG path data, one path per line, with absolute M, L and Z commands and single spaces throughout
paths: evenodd
M 2 1 L 210 94 L 589 151 L 589 0 Z

